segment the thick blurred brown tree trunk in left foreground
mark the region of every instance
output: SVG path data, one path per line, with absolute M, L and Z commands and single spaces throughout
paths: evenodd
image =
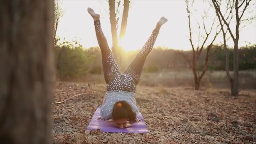
M 0 144 L 51 144 L 53 0 L 0 1 Z

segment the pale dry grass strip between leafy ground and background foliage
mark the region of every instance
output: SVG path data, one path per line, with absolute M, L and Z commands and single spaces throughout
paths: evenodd
M 232 75 L 232 72 L 231 72 Z M 105 83 L 103 75 L 89 75 L 82 81 L 88 83 Z M 256 89 L 256 71 L 239 72 L 240 88 Z M 192 71 L 161 71 L 157 73 L 143 73 L 139 85 L 165 87 L 192 87 L 194 77 Z M 229 81 L 224 71 L 207 71 L 201 81 L 202 88 L 229 88 Z

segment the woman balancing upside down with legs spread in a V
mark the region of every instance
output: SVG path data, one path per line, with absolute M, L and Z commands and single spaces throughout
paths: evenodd
M 91 8 L 88 8 L 88 13 L 91 14 L 94 20 L 96 37 L 101 49 L 104 79 L 107 83 L 107 93 L 100 110 L 101 120 L 112 119 L 117 128 L 125 128 L 128 121 L 130 123 L 140 121 L 136 117 L 139 113 L 134 98 L 136 85 L 139 83 L 144 62 L 153 48 L 160 27 L 167 19 L 162 17 L 157 22 L 155 29 L 141 51 L 125 69 L 125 72 L 121 73 L 101 30 L 100 15 L 96 14 Z

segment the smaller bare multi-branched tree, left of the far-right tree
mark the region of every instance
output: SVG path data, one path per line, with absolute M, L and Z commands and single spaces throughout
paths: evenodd
M 202 15 L 202 23 L 199 24 L 197 21 L 197 26 L 198 26 L 198 37 L 197 37 L 197 42 L 195 43 L 192 40 L 192 28 L 191 28 L 191 11 L 190 11 L 190 6 L 189 6 L 189 0 L 186 0 L 186 5 L 187 5 L 187 14 L 188 14 L 188 20 L 189 20 L 189 42 L 192 47 L 192 60 L 189 59 L 189 56 L 186 55 L 185 53 L 181 53 L 184 59 L 188 62 L 189 67 L 192 69 L 193 75 L 194 75 L 194 80 L 195 80 L 195 90 L 199 90 L 200 88 L 200 81 L 202 80 L 203 76 L 205 75 L 206 70 L 208 69 L 208 59 L 209 59 L 209 51 L 213 45 L 213 42 L 215 41 L 217 35 L 221 32 L 220 30 L 216 31 L 214 34 L 213 40 L 211 40 L 211 43 L 206 47 L 206 56 L 203 64 L 203 69 L 202 72 L 200 73 L 200 69 L 198 67 L 199 63 L 199 57 L 200 54 L 205 48 L 205 43 L 209 39 L 209 36 L 212 33 L 213 27 L 215 25 L 215 19 L 213 19 L 211 28 L 210 30 L 207 30 L 205 26 L 205 19 L 207 16 L 207 11 L 205 11 L 204 15 Z M 193 4 L 193 2 L 192 2 Z M 202 28 L 203 27 L 203 28 Z M 200 34 L 200 30 L 203 29 L 205 34 Z M 200 45 L 200 39 L 203 39 L 203 43 Z

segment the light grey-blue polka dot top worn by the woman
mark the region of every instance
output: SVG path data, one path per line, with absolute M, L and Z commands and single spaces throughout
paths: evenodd
M 105 104 L 101 106 L 100 114 L 104 120 L 109 120 L 112 118 L 113 107 L 118 101 L 126 101 L 131 105 L 133 111 L 136 115 L 139 113 L 139 107 L 134 103 L 134 95 L 133 92 L 127 91 L 107 91 L 105 94 Z

